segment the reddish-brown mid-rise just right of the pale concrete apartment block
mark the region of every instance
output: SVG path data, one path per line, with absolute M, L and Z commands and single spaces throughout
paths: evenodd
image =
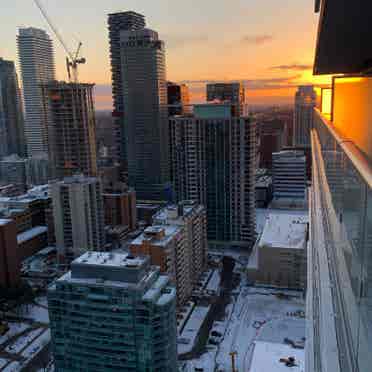
M 114 184 L 103 193 L 105 224 L 137 227 L 136 191 L 123 184 Z

